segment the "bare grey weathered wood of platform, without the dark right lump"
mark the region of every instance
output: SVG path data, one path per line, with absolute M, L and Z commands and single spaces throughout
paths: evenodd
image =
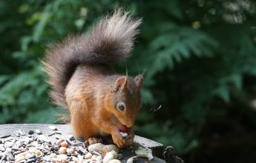
M 11 135 L 13 137 L 16 137 L 13 133 L 13 130 L 24 130 L 24 132 L 26 133 L 26 136 L 28 135 L 28 131 L 29 130 L 33 130 L 35 131 L 36 129 L 39 129 L 42 131 L 42 133 L 47 136 L 49 138 L 49 140 L 51 142 L 55 142 L 56 138 L 55 135 L 53 136 L 48 136 L 50 133 L 54 133 L 53 130 L 50 130 L 50 128 L 48 127 L 49 125 L 55 126 L 58 128 L 59 133 L 62 133 L 62 135 L 56 134 L 60 137 L 62 137 L 62 139 L 68 139 L 68 136 L 71 135 L 71 129 L 70 129 L 70 124 L 0 124 L 0 136 L 6 136 L 6 135 Z M 34 135 L 37 135 L 36 133 L 34 133 Z M 83 139 L 78 139 L 80 142 L 83 142 Z M 153 162 L 165 162 L 163 159 L 159 159 L 162 158 L 163 156 L 163 144 L 154 142 L 150 139 L 145 139 L 141 136 L 135 136 L 134 138 L 134 146 L 133 149 L 122 149 L 122 154 L 124 156 L 124 159 L 122 159 L 122 162 L 126 162 L 126 160 L 128 158 L 130 158 L 131 156 L 136 156 L 136 154 L 134 153 L 134 150 L 137 150 L 137 148 L 139 146 L 142 147 L 148 147 L 153 151 L 153 155 L 154 160 L 151 161 Z M 146 162 L 147 159 L 142 159 L 140 158 L 138 162 Z

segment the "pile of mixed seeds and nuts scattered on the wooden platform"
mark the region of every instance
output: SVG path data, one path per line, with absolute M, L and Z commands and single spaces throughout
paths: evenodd
M 34 132 L 35 131 L 35 132 Z M 33 135 L 37 133 L 38 135 Z M 26 136 L 27 134 L 27 136 Z M 90 153 L 83 142 L 76 141 L 73 136 L 68 139 L 59 135 L 59 130 L 49 135 L 44 135 L 40 130 L 19 129 L 10 135 L 0 137 L 0 162 L 95 162 L 102 163 L 106 153 L 93 150 Z M 47 136 L 55 135 L 56 141 L 50 142 Z M 19 137 L 18 137 L 19 136 Z M 105 146 L 108 150 L 111 146 Z M 122 157 L 118 156 L 118 159 Z

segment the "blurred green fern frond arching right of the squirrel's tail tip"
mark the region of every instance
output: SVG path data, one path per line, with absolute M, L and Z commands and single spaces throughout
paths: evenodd
M 216 47 L 217 41 L 206 33 L 188 27 L 173 27 L 171 31 L 161 34 L 149 44 L 151 69 L 148 75 L 153 76 L 165 68 L 171 69 L 175 62 L 181 63 L 192 55 L 214 56 Z

